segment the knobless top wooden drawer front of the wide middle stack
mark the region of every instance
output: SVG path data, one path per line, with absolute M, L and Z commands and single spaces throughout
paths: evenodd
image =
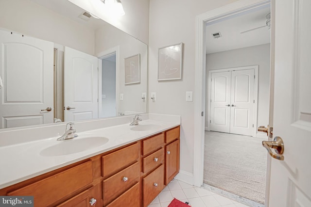
M 138 143 L 102 157 L 103 177 L 135 162 L 139 156 Z

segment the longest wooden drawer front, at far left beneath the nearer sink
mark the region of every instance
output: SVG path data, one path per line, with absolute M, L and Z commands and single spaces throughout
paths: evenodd
M 93 182 L 92 161 L 20 188 L 7 195 L 33 195 L 35 207 L 49 206 Z

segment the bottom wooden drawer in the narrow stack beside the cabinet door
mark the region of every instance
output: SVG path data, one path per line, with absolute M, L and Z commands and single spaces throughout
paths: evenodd
M 143 206 L 147 207 L 164 188 L 164 165 L 142 179 Z

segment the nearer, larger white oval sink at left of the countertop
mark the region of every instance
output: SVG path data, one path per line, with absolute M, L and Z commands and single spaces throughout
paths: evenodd
M 56 141 L 59 143 L 41 150 L 40 155 L 44 157 L 69 155 L 104 145 L 108 141 L 109 139 L 105 137 L 73 138 Z

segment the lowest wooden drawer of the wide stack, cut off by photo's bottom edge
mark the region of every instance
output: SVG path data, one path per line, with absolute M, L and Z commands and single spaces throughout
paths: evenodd
M 140 207 L 139 197 L 139 183 L 137 183 L 107 207 Z

